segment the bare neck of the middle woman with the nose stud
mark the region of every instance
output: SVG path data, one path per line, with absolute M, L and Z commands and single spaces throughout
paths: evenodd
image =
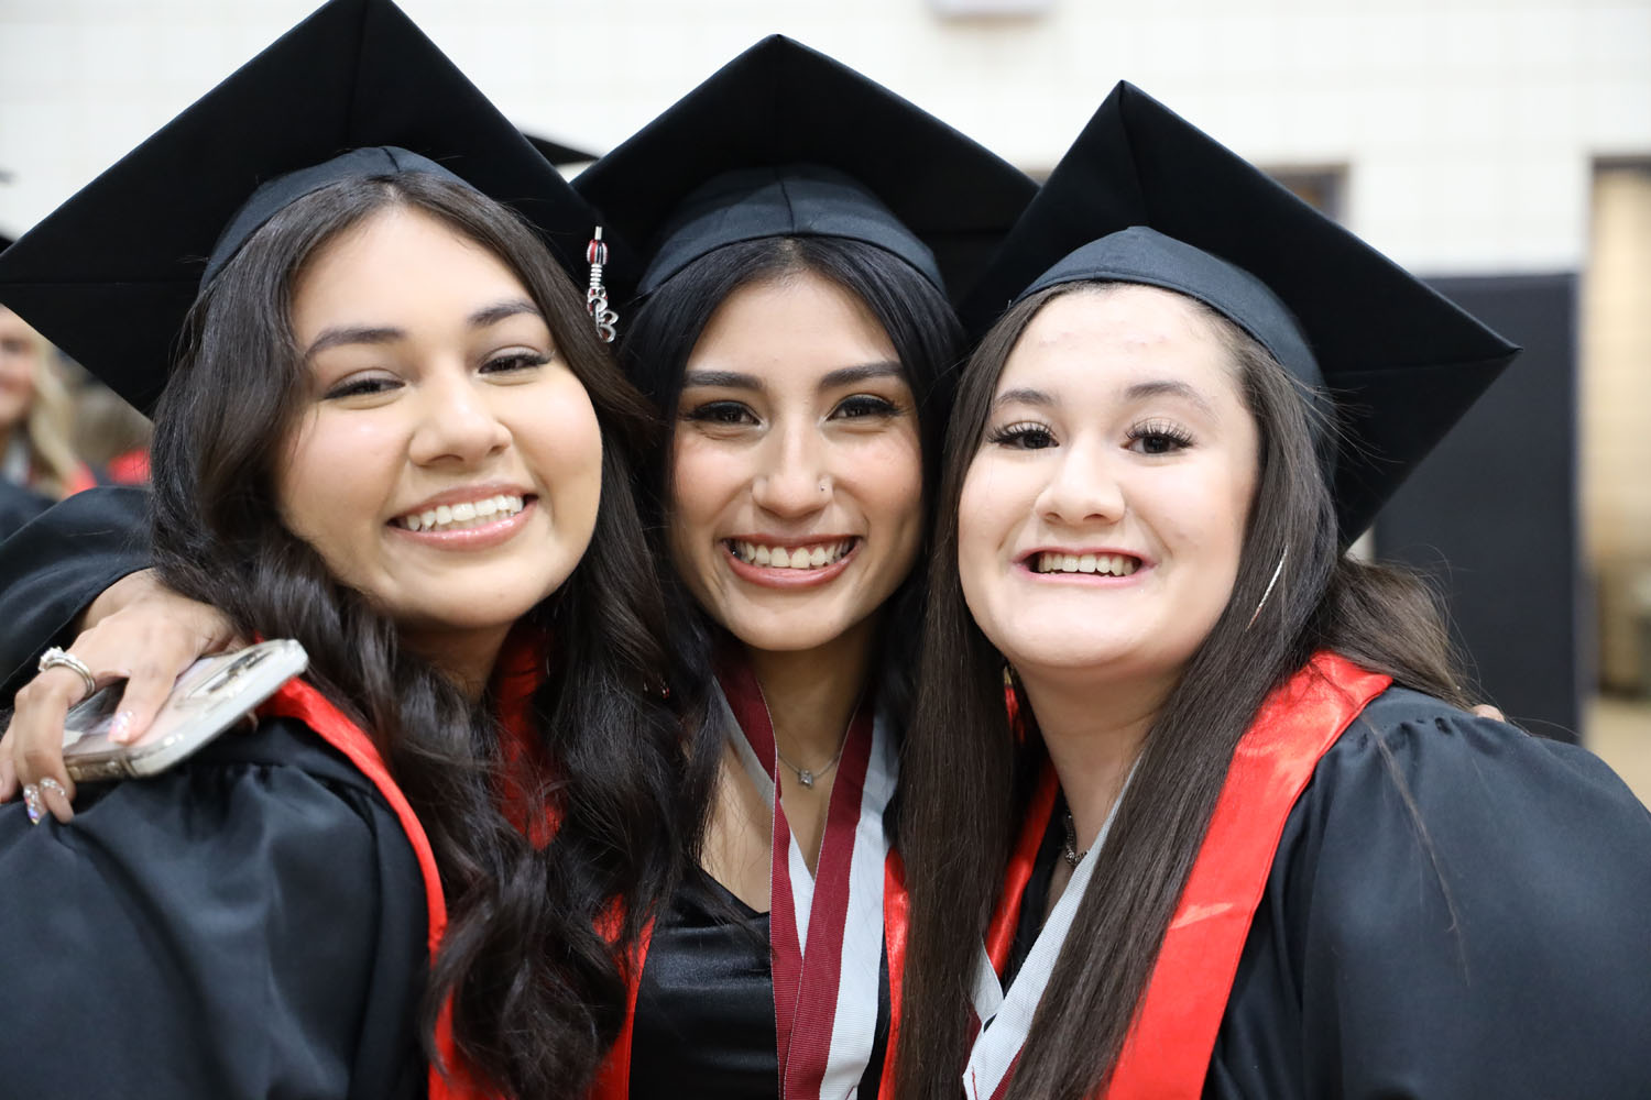
M 875 625 L 873 615 L 812 650 L 745 646 L 786 759 L 822 767 L 837 754 L 870 679 Z

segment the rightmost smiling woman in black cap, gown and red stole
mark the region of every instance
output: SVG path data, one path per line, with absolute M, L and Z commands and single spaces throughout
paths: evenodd
M 898 1095 L 1646 1095 L 1651 815 L 1344 554 L 1514 348 L 1128 84 L 977 300 Z

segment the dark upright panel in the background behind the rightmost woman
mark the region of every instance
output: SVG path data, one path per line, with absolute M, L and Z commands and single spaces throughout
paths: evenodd
M 1382 510 L 1377 556 L 1435 577 L 1478 698 L 1577 739 L 1585 632 L 1577 496 L 1577 275 L 1435 279 L 1524 346 Z

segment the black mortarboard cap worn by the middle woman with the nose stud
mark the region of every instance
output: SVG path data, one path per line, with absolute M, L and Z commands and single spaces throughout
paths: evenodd
M 725 244 L 844 236 L 956 300 L 1037 191 L 1022 172 L 781 35 L 725 64 L 575 180 L 614 237 L 621 297 Z

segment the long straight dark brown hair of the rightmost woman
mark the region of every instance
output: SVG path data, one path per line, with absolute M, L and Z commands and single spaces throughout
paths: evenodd
M 958 1095 L 981 935 L 1042 764 L 1038 745 L 1017 745 L 1009 734 L 1004 658 L 964 604 L 958 574 L 963 480 L 981 449 L 997 379 L 1027 325 L 1060 295 L 1105 294 L 1108 285 L 1058 285 L 1015 305 L 981 343 L 958 394 L 901 777 L 911 938 L 910 1008 L 896 1057 L 898 1095 L 906 1100 Z M 1313 653 L 1334 650 L 1400 684 L 1464 703 L 1431 592 L 1408 574 L 1342 554 L 1306 391 L 1237 325 L 1194 305 L 1227 345 L 1260 429 L 1260 475 L 1238 577 L 1147 731 L 1106 844 L 1091 856 L 1098 859 L 1093 881 L 1009 1088 L 1017 1098 L 1080 1100 L 1109 1079 L 1233 749 L 1273 688 Z M 1283 579 L 1250 625 L 1286 554 Z M 1027 701 L 1017 701 L 1029 714 Z

